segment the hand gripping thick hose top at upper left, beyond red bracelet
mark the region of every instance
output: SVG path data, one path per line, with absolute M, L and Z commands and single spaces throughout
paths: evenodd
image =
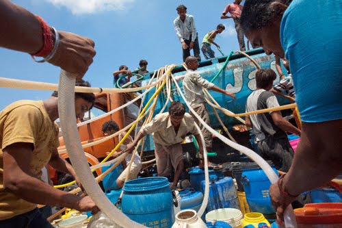
M 67 31 L 58 33 L 60 44 L 49 63 L 60 66 L 64 71 L 76 74 L 76 78 L 81 79 L 96 55 L 94 41 Z

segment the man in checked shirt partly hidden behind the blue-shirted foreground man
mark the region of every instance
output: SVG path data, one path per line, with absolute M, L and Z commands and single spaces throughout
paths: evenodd
M 280 61 L 280 59 L 279 59 L 279 61 Z M 276 84 L 275 86 L 273 86 L 273 88 L 271 89 L 271 92 L 273 92 L 274 94 L 277 94 L 281 97 L 285 97 L 291 103 L 295 103 L 295 88 L 293 88 L 293 80 L 292 80 L 292 75 L 290 73 L 289 60 L 287 60 L 286 58 L 283 58 L 282 64 L 284 65 L 284 67 L 287 70 L 287 76 L 285 76 L 283 74 L 280 75 L 279 83 Z M 278 68 L 277 68 L 277 71 L 278 71 Z M 281 67 L 280 67 L 280 72 L 281 72 Z M 278 73 L 279 73 L 279 71 L 278 71 Z M 286 92 L 286 94 L 283 94 L 282 92 Z

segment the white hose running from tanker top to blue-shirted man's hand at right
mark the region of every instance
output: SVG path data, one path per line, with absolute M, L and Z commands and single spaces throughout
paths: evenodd
M 228 140 L 228 138 L 222 136 L 221 134 L 218 134 L 218 132 L 216 132 L 209 125 L 207 125 L 207 123 L 205 123 L 205 121 L 203 121 L 202 118 L 200 118 L 200 116 L 198 116 L 198 114 L 189 105 L 189 103 L 187 102 L 187 100 L 184 97 L 184 94 L 181 92 L 181 88 L 179 88 L 179 85 L 177 84 L 176 79 L 174 79 L 173 76 L 172 76 L 172 79 L 174 80 L 174 84 L 176 85 L 177 89 L 179 90 L 179 94 L 181 94 L 181 97 L 183 98 L 183 100 L 187 104 L 187 107 L 189 107 L 189 110 L 192 112 L 192 114 L 194 114 L 194 116 L 196 116 L 198 121 L 200 121 L 200 123 L 202 125 L 204 125 L 205 128 L 207 128 L 211 132 L 211 134 L 220 138 L 220 140 L 222 140 L 222 142 L 224 142 L 228 146 L 232 147 L 233 149 L 236 149 L 237 151 L 244 153 L 246 156 L 248 156 L 254 162 L 257 162 L 257 164 L 260 166 L 260 168 L 263 169 L 263 171 L 265 172 L 265 174 L 267 175 L 267 177 L 268 177 L 269 181 L 271 181 L 271 183 L 276 183 L 278 181 L 278 176 L 276 175 L 276 173 L 274 172 L 272 167 L 269 166 L 269 164 L 267 164 L 267 162 L 265 160 L 263 160 L 263 158 L 260 155 L 258 155 L 254 151 L 248 149 L 247 147 L 243 147 L 240 144 L 237 144 L 235 142 L 232 142 L 231 140 Z M 289 228 L 297 227 L 297 225 L 295 223 L 295 215 L 293 214 L 293 209 L 292 209 L 291 204 L 285 210 L 284 220 L 285 220 L 285 227 L 289 227 Z

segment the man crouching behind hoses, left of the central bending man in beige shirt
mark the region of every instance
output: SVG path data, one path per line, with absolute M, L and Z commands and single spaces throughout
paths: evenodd
M 103 134 L 105 136 L 110 136 L 111 134 L 114 134 L 114 133 L 116 133 L 116 131 L 119 131 L 119 130 L 120 129 L 119 129 L 118 124 L 115 123 L 114 121 L 107 121 L 106 123 L 103 123 L 103 125 L 102 125 L 102 131 L 103 131 Z M 124 136 L 126 134 L 127 134 L 126 131 L 122 131 L 118 136 L 119 141 L 122 138 L 124 138 Z M 121 151 L 115 152 L 112 155 L 112 157 L 118 157 L 118 156 L 122 155 L 122 153 L 126 149 L 126 145 L 131 143 L 132 141 L 133 141 L 133 138 L 131 136 L 128 136 L 126 138 L 126 140 L 124 140 L 124 142 L 120 145 Z M 126 166 L 126 168 L 120 174 L 118 179 L 116 179 L 116 186 L 118 186 L 118 188 L 122 188 L 124 186 L 124 181 L 126 181 L 126 177 L 127 177 L 127 173 L 128 173 L 128 167 L 129 167 L 129 164 L 131 163 L 131 158 L 132 158 L 132 155 L 129 154 L 124 159 L 125 160 L 124 166 Z M 136 179 L 137 175 L 139 174 L 141 169 L 142 169 L 142 160 L 140 159 L 139 155 L 137 155 L 137 153 L 135 153 L 135 155 L 133 157 L 133 163 L 131 165 L 131 170 L 129 172 L 129 180 L 130 179 Z

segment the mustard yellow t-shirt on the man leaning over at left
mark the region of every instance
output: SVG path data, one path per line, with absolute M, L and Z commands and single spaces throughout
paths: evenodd
M 34 145 L 29 167 L 40 179 L 42 168 L 59 145 L 58 127 L 49 118 L 42 101 L 16 101 L 0 112 L 0 220 L 36 208 L 36 203 L 25 201 L 3 189 L 3 149 L 16 142 Z

